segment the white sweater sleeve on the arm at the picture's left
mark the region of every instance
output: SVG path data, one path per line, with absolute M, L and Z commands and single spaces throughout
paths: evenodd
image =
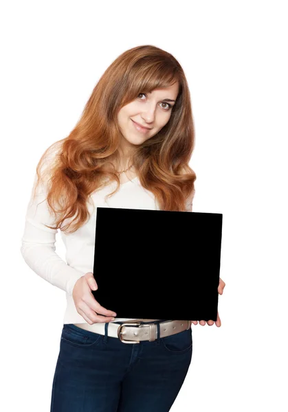
M 36 174 L 25 216 L 25 229 L 21 238 L 21 254 L 27 265 L 32 268 L 32 271 L 50 284 L 72 295 L 77 279 L 85 273 L 69 266 L 55 252 L 58 230 L 45 227 L 45 224 L 54 226 L 54 222 L 47 208 L 43 184 L 38 184 L 35 199 L 32 199 L 35 184 Z

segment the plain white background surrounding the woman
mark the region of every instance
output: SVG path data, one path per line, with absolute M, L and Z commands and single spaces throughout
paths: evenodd
M 222 325 L 192 325 L 192 363 L 171 411 L 288 410 L 286 7 L 252 0 L 2 3 L 2 411 L 49 411 L 65 310 L 65 293 L 20 253 L 36 164 L 69 135 L 111 62 L 145 44 L 173 54 L 188 79 L 193 211 L 223 214 Z

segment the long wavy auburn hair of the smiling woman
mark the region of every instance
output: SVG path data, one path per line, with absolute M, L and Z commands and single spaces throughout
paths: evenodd
M 153 45 L 142 45 L 112 62 L 74 129 L 49 146 L 38 162 L 35 192 L 39 181 L 45 181 L 47 205 L 55 216 L 54 227 L 47 227 L 73 233 L 90 217 L 87 201 L 94 191 L 111 181 L 117 186 L 109 196 L 119 190 L 118 174 L 104 167 L 121 157 L 118 111 L 140 93 L 169 87 L 175 81 L 179 92 L 168 123 L 135 146 L 131 161 L 141 185 L 155 195 L 159 209 L 186 210 L 196 180 L 188 164 L 195 145 L 188 83 L 175 57 Z

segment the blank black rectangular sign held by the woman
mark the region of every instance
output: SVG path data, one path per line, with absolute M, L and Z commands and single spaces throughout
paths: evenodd
M 120 318 L 216 321 L 222 219 L 98 207 L 93 296 Z

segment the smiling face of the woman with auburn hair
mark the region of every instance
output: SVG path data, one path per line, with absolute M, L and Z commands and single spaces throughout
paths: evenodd
M 175 82 L 151 93 L 140 93 L 133 102 L 120 108 L 118 124 L 124 137 L 122 146 L 133 148 L 155 136 L 170 119 L 178 90 L 179 83 Z

